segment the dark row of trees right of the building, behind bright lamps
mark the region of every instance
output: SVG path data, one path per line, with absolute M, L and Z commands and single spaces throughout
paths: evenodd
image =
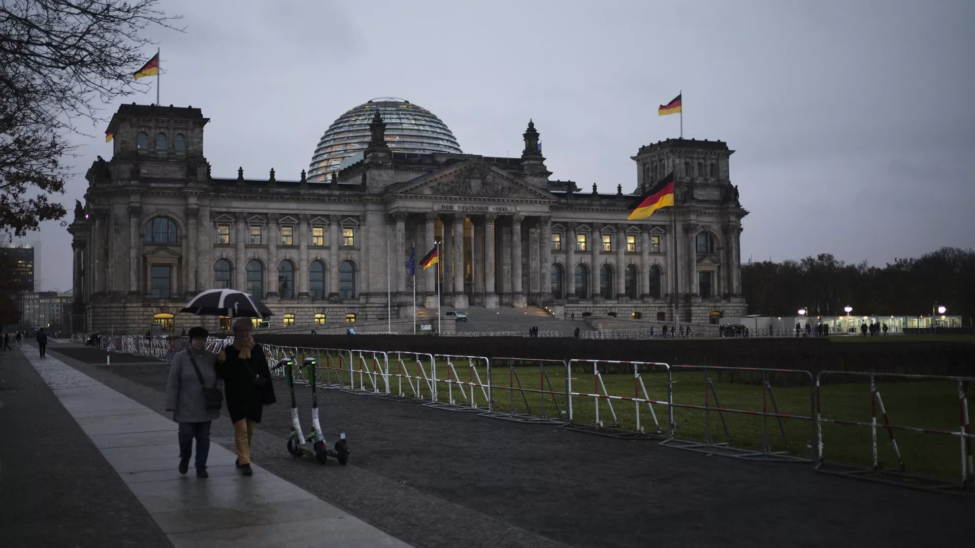
M 761 261 L 741 268 L 749 313 L 795 316 L 929 315 L 935 304 L 971 325 L 975 315 L 975 251 L 941 248 L 917 258 L 895 258 L 884 267 L 847 264 L 833 254 L 801 260 Z

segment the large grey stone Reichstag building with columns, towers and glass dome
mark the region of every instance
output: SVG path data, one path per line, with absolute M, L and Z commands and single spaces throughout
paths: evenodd
M 746 313 L 738 243 L 748 212 L 722 141 L 641 146 L 634 180 L 605 194 L 551 178 L 532 122 L 520 156 L 469 154 L 437 116 L 400 98 L 342 114 L 296 180 L 270 166 L 211 176 L 208 122 L 199 108 L 135 103 L 112 117 L 112 157 L 89 169 L 68 227 L 74 329 L 178 332 L 199 319 L 176 311 L 213 288 L 259 296 L 275 326 L 385 320 L 387 307 L 407 319 L 413 305 L 433 316 L 438 290 L 444 306 L 547 306 L 565 318 L 673 322 L 675 299 L 682 323 Z M 628 221 L 634 195 L 671 171 L 676 214 Z M 417 266 L 414 302 L 410 249 L 418 264 L 435 241 L 441 260 Z

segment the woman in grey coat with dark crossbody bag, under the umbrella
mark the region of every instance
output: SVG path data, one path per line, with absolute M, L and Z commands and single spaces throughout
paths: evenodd
M 204 348 L 207 345 L 207 330 L 189 330 L 189 348 L 176 353 L 170 368 L 170 379 L 166 384 L 166 411 L 174 411 L 174 419 L 179 423 L 179 473 L 189 470 L 189 457 L 196 440 L 196 476 L 207 478 L 207 455 L 210 453 L 210 423 L 220 416 L 218 410 L 208 410 L 204 397 L 207 388 L 221 388 L 222 381 L 216 376 L 216 354 Z M 192 357 L 192 359 L 191 359 Z M 203 384 L 200 374 L 203 375 Z

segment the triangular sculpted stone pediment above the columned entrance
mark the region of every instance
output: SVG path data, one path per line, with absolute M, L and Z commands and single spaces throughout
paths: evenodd
M 443 170 L 413 179 L 397 192 L 404 195 L 511 198 L 545 200 L 555 198 L 524 180 L 501 171 L 487 162 L 469 160 Z

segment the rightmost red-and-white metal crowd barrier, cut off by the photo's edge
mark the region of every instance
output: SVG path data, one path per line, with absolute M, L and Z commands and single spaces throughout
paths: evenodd
M 824 379 L 827 377 L 868 377 L 870 379 L 870 421 L 827 418 L 822 413 L 822 387 Z M 903 424 L 892 424 L 887 417 L 887 409 L 880 397 L 880 390 L 877 386 L 878 377 L 880 379 L 892 380 L 915 380 L 915 381 L 948 381 L 957 387 L 958 400 L 958 425 L 957 430 L 946 428 L 931 428 L 919 426 L 906 426 Z M 915 489 L 968 489 L 975 485 L 975 463 L 972 460 L 972 433 L 968 416 L 968 388 L 975 382 L 975 377 L 966 376 L 936 376 L 925 374 L 906 374 L 906 373 L 874 373 L 874 372 L 833 372 L 824 371 L 816 375 L 816 432 L 817 432 L 817 456 L 816 471 L 839 476 L 854 477 L 880 483 L 903 485 Z M 879 416 L 878 416 L 879 415 Z M 883 423 L 878 423 L 882 419 Z M 860 426 L 870 428 L 871 433 L 871 460 L 870 468 L 856 467 L 849 464 L 840 464 L 826 459 L 824 454 L 825 441 L 823 434 L 823 424 L 839 424 L 844 426 Z M 897 468 L 894 470 L 883 469 L 878 458 L 878 428 L 886 430 L 890 443 L 890 449 L 897 459 Z M 897 443 L 895 431 L 916 432 L 921 435 L 946 436 L 958 438 L 958 451 L 960 454 L 959 465 L 961 468 L 960 481 L 957 483 L 935 482 L 931 478 L 906 472 L 907 466 L 902 455 L 901 448 Z M 925 442 L 924 446 L 936 445 L 932 442 Z M 900 480 L 900 481 L 896 481 Z

